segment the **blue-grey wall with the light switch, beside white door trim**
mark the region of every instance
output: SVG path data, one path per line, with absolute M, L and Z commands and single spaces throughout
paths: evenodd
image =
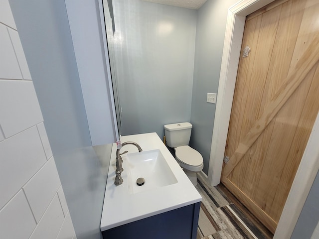
M 202 154 L 206 174 L 216 109 L 215 104 L 206 103 L 206 97 L 218 91 L 227 12 L 237 1 L 207 0 L 197 15 L 190 146 Z

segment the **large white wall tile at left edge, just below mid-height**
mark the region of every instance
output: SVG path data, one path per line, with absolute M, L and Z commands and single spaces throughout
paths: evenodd
M 1 208 L 47 161 L 36 126 L 0 142 L 0 152 Z

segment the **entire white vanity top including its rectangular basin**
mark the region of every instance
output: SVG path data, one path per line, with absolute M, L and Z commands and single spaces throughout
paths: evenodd
M 116 186 L 116 143 L 112 146 L 110 167 L 104 195 L 101 232 L 201 201 L 189 181 L 157 133 L 121 136 L 121 141 L 137 142 L 143 149 L 128 144 L 122 154 L 123 184 Z M 136 180 L 145 179 L 138 186 Z

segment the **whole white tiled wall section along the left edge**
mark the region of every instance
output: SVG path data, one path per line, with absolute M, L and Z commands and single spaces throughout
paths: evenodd
M 8 0 L 0 42 L 0 239 L 76 239 Z

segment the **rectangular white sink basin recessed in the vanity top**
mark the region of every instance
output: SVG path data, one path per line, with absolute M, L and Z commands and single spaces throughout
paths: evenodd
M 130 194 L 177 183 L 177 179 L 159 149 L 128 153 L 123 167 L 127 170 Z M 138 178 L 145 179 L 144 185 L 137 185 Z

